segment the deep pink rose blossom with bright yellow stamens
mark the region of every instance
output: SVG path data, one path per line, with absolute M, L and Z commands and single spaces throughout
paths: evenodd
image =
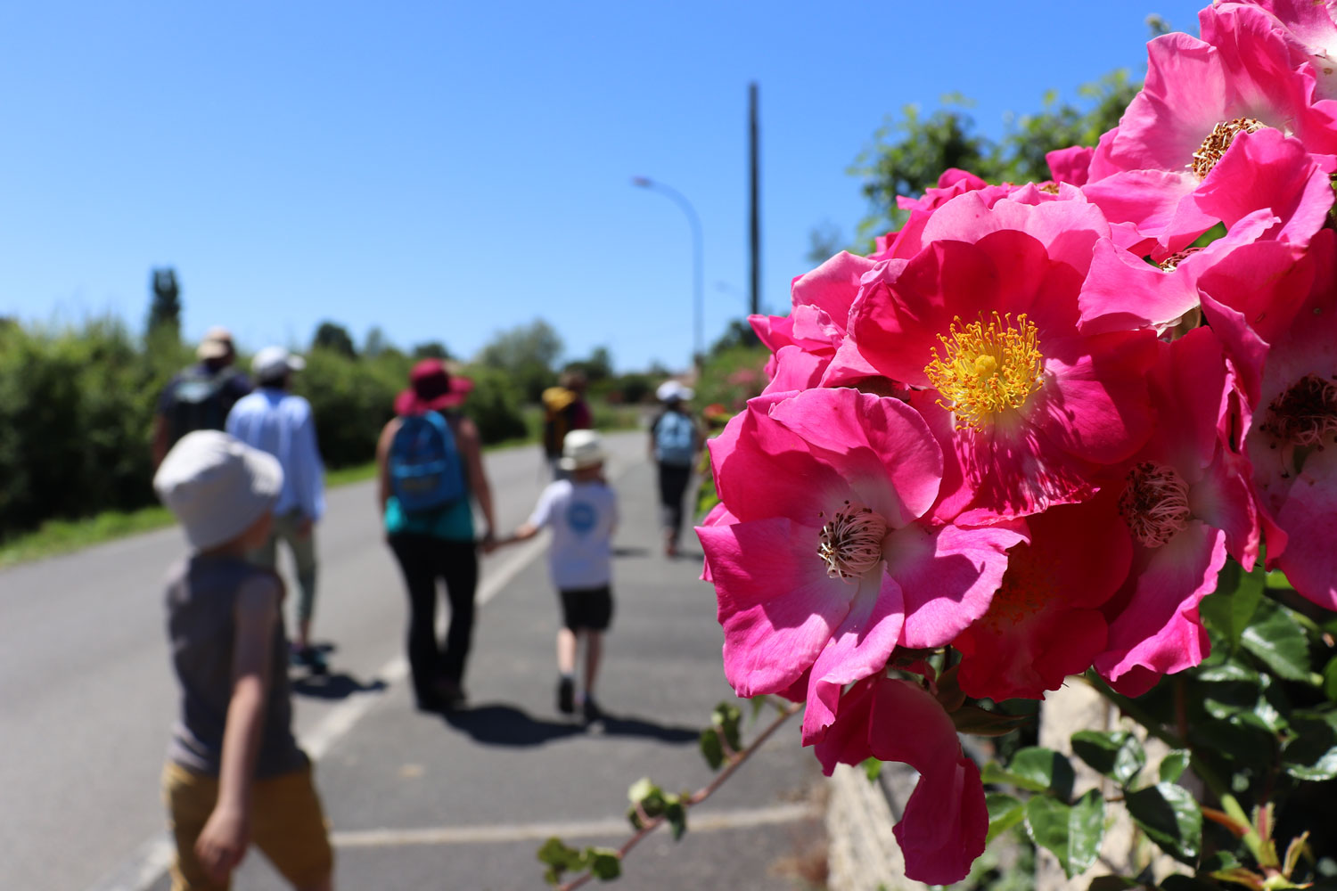
M 1151 431 L 1143 374 L 1155 337 L 1076 327 L 1102 236 L 1108 227 L 1083 202 L 991 208 L 969 192 L 933 214 L 916 256 L 864 277 L 854 345 L 888 378 L 924 389 L 917 406 L 953 413 L 949 446 L 975 498 L 963 522 L 1083 501 L 1092 469 Z

